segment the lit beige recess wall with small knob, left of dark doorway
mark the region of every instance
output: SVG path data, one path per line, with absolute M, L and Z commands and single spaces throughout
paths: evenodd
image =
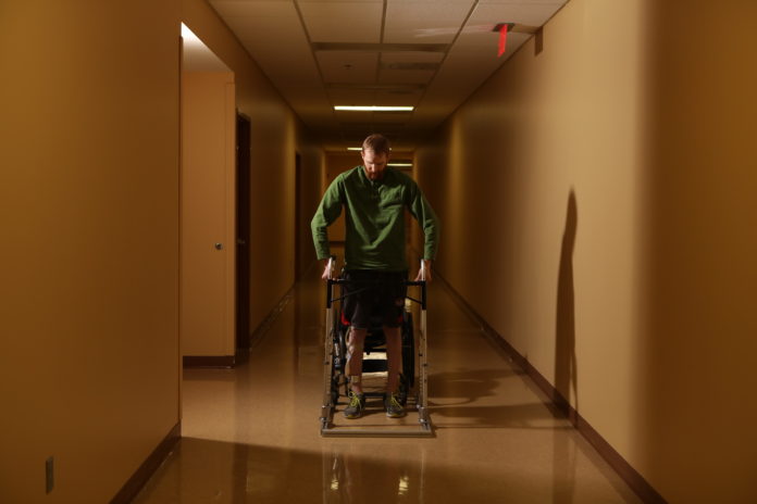
M 234 74 L 182 74 L 182 355 L 234 355 Z M 214 244 L 221 243 L 218 250 Z

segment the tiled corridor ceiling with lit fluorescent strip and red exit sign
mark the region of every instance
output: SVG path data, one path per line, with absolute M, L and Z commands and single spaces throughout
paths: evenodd
M 209 0 L 326 150 L 371 133 L 412 150 L 567 1 Z M 498 23 L 516 24 L 501 58 Z

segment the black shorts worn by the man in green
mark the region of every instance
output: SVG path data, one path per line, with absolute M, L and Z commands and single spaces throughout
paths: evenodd
M 347 324 L 356 329 L 369 329 L 372 323 L 402 325 L 408 272 L 351 269 L 345 272 L 344 279 L 342 314 Z

